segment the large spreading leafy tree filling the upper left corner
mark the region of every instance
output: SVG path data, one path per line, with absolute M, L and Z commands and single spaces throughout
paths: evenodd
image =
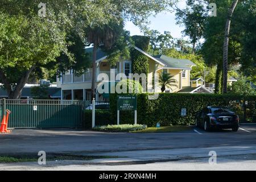
M 38 3 L 34 0 L 0 2 L 0 21 L 3 22 L 0 25 L 0 80 L 9 98 L 20 97 L 36 67 L 55 69 L 56 57 L 63 54 L 73 62 L 72 67 L 75 62 L 79 63 L 75 52 L 68 50 L 70 32 L 75 31 L 84 41 L 85 35 L 88 36 L 85 27 L 104 27 L 110 20 L 118 22 L 125 18 L 143 26 L 148 16 L 167 9 L 172 1 L 45 0 L 45 18 L 38 16 Z

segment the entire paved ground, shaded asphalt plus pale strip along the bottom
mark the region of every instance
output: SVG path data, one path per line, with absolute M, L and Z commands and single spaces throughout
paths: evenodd
M 42 150 L 46 153 L 72 152 L 72 154 L 119 156 L 119 158 L 96 159 L 78 163 L 77 166 L 74 166 L 75 162 L 53 162 L 48 163 L 47 168 L 38 167 L 38 164 L 32 166 L 24 164 L 20 167 L 17 166 L 18 164 L 1 164 L 0 168 L 140 170 L 144 166 L 144 169 L 156 170 L 161 164 L 161 169 L 164 170 L 214 170 L 216 167 L 209 166 L 208 159 L 209 151 L 216 151 L 219 169 L 256 170 L 256 125 L 241 125 L 241 129 L 237 132 L 221 130 L 206 133 L 192 127 L 190 131 L 178 133 L 13 130 L 10 134 L 0 135 L 0 156 L 1 154 L 37 154 Z M 208 168 L 204 168 L 204 165 Z

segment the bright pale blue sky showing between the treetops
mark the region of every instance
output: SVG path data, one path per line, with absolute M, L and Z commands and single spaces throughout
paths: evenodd
M 181 9 L 185 7 L 185 0 L 181 1 L 178 5 Z M 148 27 L 151 30 L 158 30 L 163 34 L 164 31 L 170 31 L 173 38 L 181 38 L 183 35 L 181 31 L 184 30 L 183 26 L 176 24 L 175 12 L 163 12 L 158 15 L 150 16 L 151 24 Z M 126 22 L 125 29 L 130 31 L 131 35 L 143 35 L 143 33 L 132 22 Z M 187 38 L 186 38 L 187 39 Z

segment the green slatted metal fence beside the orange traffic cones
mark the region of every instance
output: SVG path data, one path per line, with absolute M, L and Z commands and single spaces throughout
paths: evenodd
M 87 101 L 70 100 L 1 100 L 9 109 L 8 127 L 13 128 L 81 128 Z

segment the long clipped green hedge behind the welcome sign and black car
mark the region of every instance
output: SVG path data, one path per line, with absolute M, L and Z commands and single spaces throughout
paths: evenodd
M 181 94 L 160 93 L 157 100 L 148 100 L 148 94 L 138 94 L 137 123 L 155 126 L 160 122 L 162 126 L 192 125 L 195 115 L 206 106 L 232 107 L 230 101 L 241 102 L 246 99 L 250 110 L 255 112 L 256 97 L 243 97 L 228 94 Z M 187 109 L 187 115 L 181 116 L 181 109 Z M 110 118 L 117 121 L 117 94 L 110 94 Z M 134 114 L 131 111 L 120 111 L 120 123 L 133 123 Z

